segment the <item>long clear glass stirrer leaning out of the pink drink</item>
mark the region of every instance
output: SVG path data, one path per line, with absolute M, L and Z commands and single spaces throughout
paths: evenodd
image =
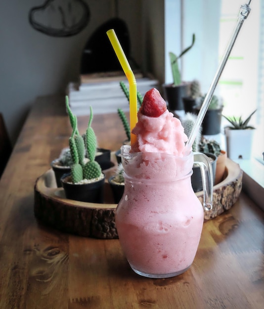
M 209 106 L 210 101 L 212 99 L 212 96 L 213 96 L 213 93 L 215 91 L 216 85 L 217 85 L 217 83 L 219 81 L 219 78 L 221 76 L 223 68 L 224 68 L 224 66 L 225 66 L 225 64 L 227 62 L 227 59 L 228 59 L 229 55 L 230 55 L 232 47 L 233 47 L 233 45 L 235 43 L 235 40 L 237 38 L 237 35 L 238 35 L 242 25 L 243 25 L 244 20 L 248 17 L 248 15 L 250 13 L 250 10 L 251 10 L 250 7 L 249 7 L 250 2 L 251 2 L 251 0 L 249 0 L 248 3 L 242 4 L 240 6 L 240 10 L 239 10 L 239 13 L 238 13 L 238 19 L 237 19 L 237 22 L 236 22 L 236 26 L 235 26 L 235 28 L 233 30 L 233 33 L 232 33 L 232 35 L 231 35 L 231 37 L 229 39 L 229 42 L 227 44 L 227 47 L 226 47 L 225 51 L 224 51 L 224 54 L 222 56 L 222 59 L 220 61 L 219 66 L 218 66 L 216 75 L 213 78 L 213 81 L 212 81 L 212 83 L 211 83 L 211 85 L 209 87 L 209 90 L 208 90 L 208 92 L 207 92 L 207 94 L 205 96 L 204 102 L 203 102 L 203 104 L 201 106 L 201 109 L 199 111 L 199 114 L 198 114 L 198 116 L 196 118 L 195 124 L 194 124 L 194 126 L 193 126 L 193 128 L 191 130 L 190 136 L 189 136 L 189 138 L 188 138 L 188 140 L 186 142 L 185 150 L 184 150 L 185 154 L 188 154 L 191 151 L 191 149 L 192 149 L 192 144 L 193 144 L 193 142 L 194 142 L 194 140 L 196 138 L 196 135 L 198 133 L 199 128 L 201 127 L 202 121 L 203 121 L 204 116 L 205 116 L 205 114 L 207 112 L 207 109 L 208 109 L 208 106 Z

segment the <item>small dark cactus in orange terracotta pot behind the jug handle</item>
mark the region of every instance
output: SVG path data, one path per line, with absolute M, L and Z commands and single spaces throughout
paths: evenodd
M 215 154 L 217 156 L 215 185 L 218 185 L 224 177 L 227 157 L 226 152 L 221 150 L 220 144 L 216 140 L 208 140 L 206 138 L 202 138 L 202 141 L 199 144 L 199 149 L 200 152 Z

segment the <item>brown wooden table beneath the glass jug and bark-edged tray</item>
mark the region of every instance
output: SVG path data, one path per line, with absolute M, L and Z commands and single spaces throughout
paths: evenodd
M 79 117 L 80 131 L 87 116 Z M 95 115 L 99 146 L 126 139 L 116 114 Z M 59 232 L 34 217 L 34 184 L 66 147 L 63 97 L 33 106 L 0 182 L 0 308 L 264 308 L 264 212 L 241 193 L 204 223 L 191 268 L 150 279 L 129 267 L 118 239 Z

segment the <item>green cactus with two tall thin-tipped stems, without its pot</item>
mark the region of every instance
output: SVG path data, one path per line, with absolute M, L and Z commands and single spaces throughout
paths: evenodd
M 102 175 L 102 170 L 99 163 L 94 160 L 96 154 L 96 137 L 91 127 L 93 118 L 92 108 L 90 107 L 90 117 L 86 130 L 86 143 L 77 129 L 77 117 L 72 114 L 67 97 L 66 108 L 72 125 L 72 134 L 69 138 L 69 147 L 73 159 L 73 164 L 71 165 L 72 182 L 79 183 L 84 179 L 98 178 Z M 87 153 L 88 158 L 88 162 L 86 163 L 84 160 L 85 153 Z

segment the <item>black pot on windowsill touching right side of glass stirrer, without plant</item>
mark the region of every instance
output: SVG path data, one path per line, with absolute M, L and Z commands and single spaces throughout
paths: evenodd
M 215 135 L 220 133 L 222 110 L 222 107 L 217 110 L 207 110 L 202 122 L 202 135 Z M 195 109 L 197 115 L 199 111 L 199 109 Z

